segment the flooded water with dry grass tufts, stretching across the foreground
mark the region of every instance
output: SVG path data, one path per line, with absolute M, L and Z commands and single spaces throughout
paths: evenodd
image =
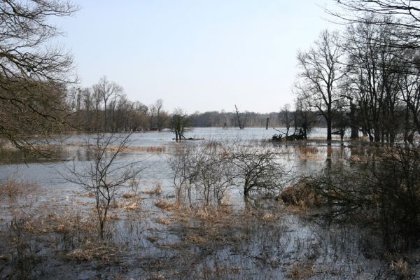
M 325 132 L 318 129 L 312 135 L 323 138 Z M 276 133 L 197 128 L 186 137 L 269 146 L 288 173 L 286 185 L 357 156 L 358 147 L 348 141 L 333 141 L 332 146 L 319 140 L 265 141 Z M 240 188 L 230 190 L 229 203 L 220 211 L 172 207 L 175 190 L 168 158 L 179 146 L 200 145 L 203 140 L 175 143 L 169 131 L 132 134 L 131 150 L 121 153 L 118 163 L 136 162 L 142 168 L 143 193 L 137 200 L 121 198 L 112 210 L 107 242 L 94 243 L 96 232 L 88 229 L 94 225 L 94 199 L 63 178 L 67 167 L 74 165 L 80 172 L 89 167 L 85 144 L 92 137 L 66 137 L 63 155 L 68 160 L 25 163 L 16 155 L 15 163 L 0 165 L 0 180 L 40 186 L 19 200 L 1 202 L 0 278 L 393 279 L 404 269 L 405 262 L 375 255 L 381 245 L 369 230 L 328 225 L 315 214 L 285 212 L 273 197 L 246 202 Z M 158 185 L 162 194 L 149 192 Z M 101 255 L 101 250 L 108 251 Z M 390 268 L 393 263 L 400 268 Z

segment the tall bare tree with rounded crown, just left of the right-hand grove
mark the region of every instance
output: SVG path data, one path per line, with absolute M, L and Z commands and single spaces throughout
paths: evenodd
M 343 77 L 340 70 L 344 50 L 337 32 L 321 32 L 315 47 L 298 52 L 300 83 L 298 94 L 307 104 L 316 109 L 327 123 L 327 140 L 331 141 L 332 112 L 339 97 L 337 83 Z

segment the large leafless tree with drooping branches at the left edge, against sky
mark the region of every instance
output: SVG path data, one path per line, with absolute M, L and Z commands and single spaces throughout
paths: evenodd
M 22 151 L 41 152 L 32 135 L 48 139 L 66 123 L 72 59 L 49 45 L 60 35 L 50 19 L 76 10 L 55 0 L 0 1 L 0 136 Z

